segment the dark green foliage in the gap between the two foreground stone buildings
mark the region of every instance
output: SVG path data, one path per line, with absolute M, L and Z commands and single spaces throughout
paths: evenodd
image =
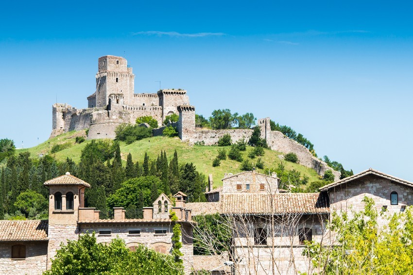
M 226 219 L 218 213 L 193 217 L 197 222 L 193 228 L 194 255 L 214 255 L 230 251 L 232 234 Z

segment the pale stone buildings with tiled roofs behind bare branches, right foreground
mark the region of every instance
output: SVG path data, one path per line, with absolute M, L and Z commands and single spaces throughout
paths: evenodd
M 276 184 L 276 175 L 227 174 L 219 201 L 187 204 L 192 215 L 219 213 L 231 226 L 233 274 L 312 274 L 316 271 L 310 259 L 302 255 L 304 241 L 334 243 L 334 232 L 326 230 L 333 211 L 360 211 L 364 196 L 389 214 L 413 205 L 413 183 L 373 169 L 324 186 L 319 193 L 281 193 Z M 386 220 L 379 218 L 379 223 Z

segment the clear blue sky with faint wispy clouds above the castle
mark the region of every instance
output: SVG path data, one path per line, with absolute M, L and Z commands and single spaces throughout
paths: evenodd
M 291 126 L 319 156 L 413 181 L 408 1 L 19 1 L 0 17 L 0 137 L 45 141 L 52 104 L 86 107 L 100 56 L 125 56 L 135 92 L 187 89 Z

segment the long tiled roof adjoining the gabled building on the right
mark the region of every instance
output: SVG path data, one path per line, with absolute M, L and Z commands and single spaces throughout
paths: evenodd
M 221 194 L 222 214 L 329 213 L 327 197 L 320 193 Z

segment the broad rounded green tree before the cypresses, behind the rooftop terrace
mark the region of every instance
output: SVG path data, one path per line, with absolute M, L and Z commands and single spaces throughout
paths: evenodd
M 163 190 L 161 180 L 156 176 L 143 176 L 132 178 L 122 183 L 121 188 L 116 190 L 114 194 L 107 198 L 109 208 L 113 207 L 128 207 L 136 205 L 139 202 L 139 193 L 143 193 L 144 206 L 152 206 L 154 200 L 151 199 L 151 189 L 153 186 L 157 188 L 157 194 Z

